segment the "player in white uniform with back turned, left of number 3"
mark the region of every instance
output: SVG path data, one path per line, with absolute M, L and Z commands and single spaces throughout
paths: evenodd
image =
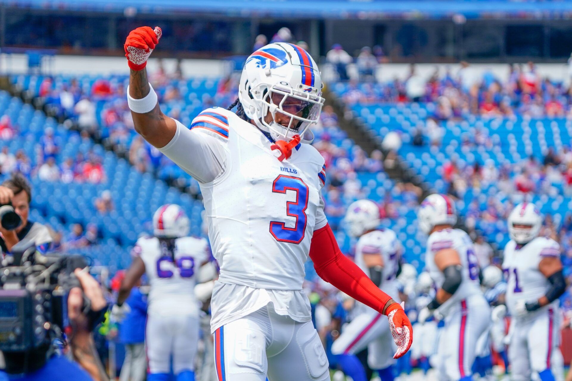
M 150 284 L 145 343 L 149 381 L 170 380 L 170 362 L 177 381 L 194 381 L 194 355 L 199 330 L 199 304 L 194 295 L 195 273 L 209 258 L 204 238 L 189 234 L 189 219 L 176 204 L 165 204 L 153 215 L 154 236 L 133 247 L 133 261 L 121 282 L 112 312 L 120 315 L 125 300 L 143 274 Z

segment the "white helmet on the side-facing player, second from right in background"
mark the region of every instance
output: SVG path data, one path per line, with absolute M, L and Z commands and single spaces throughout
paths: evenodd
M 428 195 L 417 212 L 419 228 L 429 234 L 436 225 L 453 226 L 457 222 L 455 203 L 444 194 Z

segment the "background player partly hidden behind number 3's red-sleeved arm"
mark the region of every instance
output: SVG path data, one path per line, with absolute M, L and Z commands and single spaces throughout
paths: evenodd
M 348 233 L 359 237 L 355 263 L 370 275 L 372 282 L 382 291 L 401 302 L 396 276 L 402 246 L 394 231 L 377 228 L 380 223 L 379 206 L 371 200 L 353 202 L 348 207 L 344 221 Z M 366 381 L 366 371 L 355 354 L 367 347 L 370 368 L 378 371 L 382 381 L 392 381 L 395 349 L 387 319 L 382 319 L 378 311 L 362 303 L 356 304 L 355 309 L 356 317 L 344 326 L 339 338 L 333 342 L 332 354 L 340 356 L 340 363 L 358 364 L 359 367 L 354 369 L 355 374 L 348 375 L 354 381 Z

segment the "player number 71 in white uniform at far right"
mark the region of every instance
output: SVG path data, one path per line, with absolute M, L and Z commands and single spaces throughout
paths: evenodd
M 542 381 L 551 381 L 557 377 L 551 363 L 560 351 L 558 298 L 566 290 L 560 245 L 538 236 L 542 217 L 533 203 L 518 204 L 508 224 L 511 240 L 505 246 L 502 267 L 508 283 L 507 308 L 513 316 L 509 329 L 512 378 L 528 381 L 535 372 Z

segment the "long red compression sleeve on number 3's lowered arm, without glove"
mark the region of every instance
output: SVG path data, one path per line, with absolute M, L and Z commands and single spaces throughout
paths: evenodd
M 366 274 L 341 254 L 329 224 L 315 230 L 310 244 L 310 258 L 320 278 L 352 298 L 382 312 L 391 296 L 380 290 Z

